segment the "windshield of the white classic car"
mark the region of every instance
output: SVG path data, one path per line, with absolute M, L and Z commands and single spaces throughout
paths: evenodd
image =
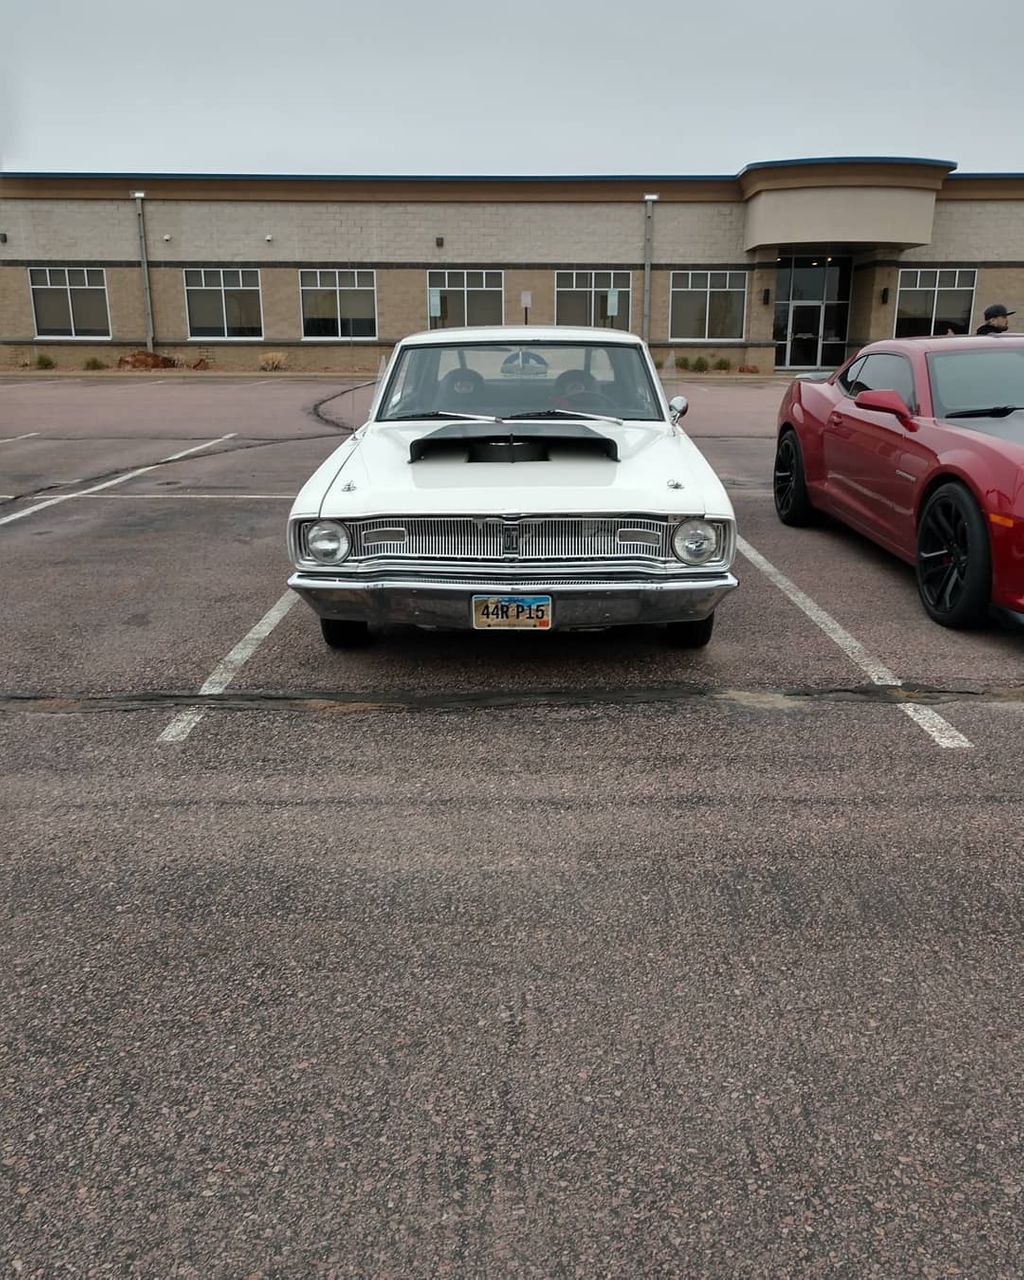
M 662 421 L 641 348 L 600 342 L 406 347 L 376 420 L 572 413 Z

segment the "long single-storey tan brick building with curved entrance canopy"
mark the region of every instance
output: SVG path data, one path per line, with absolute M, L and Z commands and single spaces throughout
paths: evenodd
M 150 346 L 372 372 L 430 326 L 598 324 L 655 356 L 831 367 L 1024 312 L 1024 174 L 938 160 L 736 177 L 0 175 L 0 366 Z

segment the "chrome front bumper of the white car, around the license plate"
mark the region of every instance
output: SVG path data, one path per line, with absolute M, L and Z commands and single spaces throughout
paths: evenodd
M 732 573 L 694 573 L 689 577 L 648 581 L 572 581 L 530 579 L 472 579 L 430 581 L 394 575 L 372 581 L 300 571 L 288 579 L 321 618 L 370 622 L 378 626 L 410 625 L 472 628 L 474 595 L 550 595 L 556 631 L 657 622 L 699 622 L 736 588 Z

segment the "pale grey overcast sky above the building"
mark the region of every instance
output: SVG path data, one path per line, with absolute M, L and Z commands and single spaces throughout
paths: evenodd
M 1024 172 L 1024 3 L 5 0 L 4 172 Z

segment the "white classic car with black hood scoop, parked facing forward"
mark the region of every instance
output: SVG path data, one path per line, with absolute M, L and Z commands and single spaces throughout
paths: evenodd
M 369 420 L 294 500 L 288 584 L 332 648 L 365 643 L 371 623 L 660 623 L 705 645 L 736 586 L 736 525 L 685 412 L 632 334 L 404 338 Z

